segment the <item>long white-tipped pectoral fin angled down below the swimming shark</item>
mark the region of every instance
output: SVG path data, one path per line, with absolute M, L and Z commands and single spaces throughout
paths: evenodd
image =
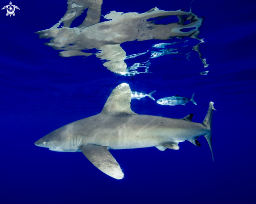
M 86 158 L 103 173 L 116 179 L 124 178 L 124 173 L 115 158 L 108 151 L 107 146 L 82 144 L 79 148 Z

